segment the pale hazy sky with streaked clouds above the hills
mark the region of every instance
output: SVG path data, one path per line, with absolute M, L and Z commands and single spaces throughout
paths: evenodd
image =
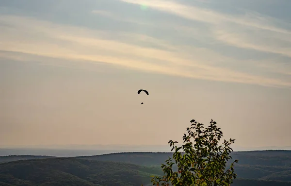
M 167 145 L 211 118 L 236 147 L 291 147 L 289 7 L 1 0 L 0 147 Z

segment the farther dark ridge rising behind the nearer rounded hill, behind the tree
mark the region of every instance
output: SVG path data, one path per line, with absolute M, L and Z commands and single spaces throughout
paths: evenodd
M 77 158 L 160 167 L 172 152 L 123 152 Z M 291 151 L 232 152 L 238 178 L 291 181 Z M 174 166 L 175 169 L 175 166 Z

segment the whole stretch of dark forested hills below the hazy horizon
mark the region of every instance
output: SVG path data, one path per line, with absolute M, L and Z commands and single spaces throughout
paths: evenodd
M 172 152 L 114 152 L 80 157 L 1 156 L 0 160 L 14 159 L 0 163 L 0 185 L 129 186 L 144 183 L 146 186 L 150 184 L 151 175 L 162 173 L 161 164 L 171 155 Z M 232 152 L 232 157 L 239 159 L 235 165 L 238 179 L 233 186 L 291 186 L 291 151 Z M 173 169 L 175 171 L 175 166 Z

